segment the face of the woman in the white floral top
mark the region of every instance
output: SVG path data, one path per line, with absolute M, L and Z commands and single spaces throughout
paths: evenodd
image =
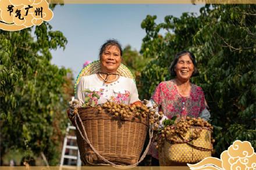
M 107 46 L 101 56 L 101 71 L 115 73 L 121 64 L 120 50 L 117 46 Z

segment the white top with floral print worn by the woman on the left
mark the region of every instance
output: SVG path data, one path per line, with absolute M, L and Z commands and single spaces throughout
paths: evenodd
M 81 77 L 75 98 L 81 106 L 84 103 L 93 106 L 108 101 L 131 104 L 140 100 L 133 79 L 120 76 L 117 81 L 104 84 L 97 74 Z

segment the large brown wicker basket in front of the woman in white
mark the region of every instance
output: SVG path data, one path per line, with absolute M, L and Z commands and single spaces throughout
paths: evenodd
M 147 135 L 148 118 L 115 117 L 106 109 L 98 111 L 93 107 L 79 108 L 78 112 L 83 125 L 76 118 L 77 144 L 84 164 L 105 163 L 99 155 L 114 164 L 131 165 L 139 160 Z M 84 140 L 85 134 L 98 153 Z

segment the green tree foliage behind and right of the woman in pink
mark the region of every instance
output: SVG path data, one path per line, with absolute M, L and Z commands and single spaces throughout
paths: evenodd
M 205 5 L 198 16 L 166 16 L 160 24 L 147 16 L 141 23 L 147 33 L 141 53 L 151 62 L 141 71 L 140 96 L 149 98 L 159 82 L 171 78 L 169 65 L 177 52 L 193 52 L 200 76 L 191 81 L 204 89 L 211 109 L 216 155 L 237 139 L 256 149 L 255 13 L 256 5 Z

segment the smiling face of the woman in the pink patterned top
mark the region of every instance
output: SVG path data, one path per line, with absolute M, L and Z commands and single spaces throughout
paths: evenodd
M 189 55 L 184 55 L 179 57 L 177 64 L 175 66 L 175 73 L 177 79 L 180 81 L 187 81 L 190 79 L 194 72 L 194 64 L 190 59 Z

